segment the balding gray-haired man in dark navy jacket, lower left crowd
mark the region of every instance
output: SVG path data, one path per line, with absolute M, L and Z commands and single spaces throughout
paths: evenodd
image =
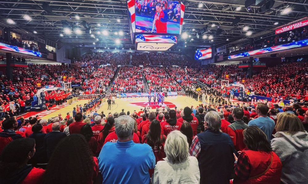
M 59 118 L 58 118 L 59 119 Z M 60 132 L 60 123 L 55 122 L 52 124 L 52 132 L 47 133 L 44 137 L 44 148 L 46 149 L 47 159 L 49 160 L 52 152 L 54 152 L 58 143 L 66 137 L 66 134 Z

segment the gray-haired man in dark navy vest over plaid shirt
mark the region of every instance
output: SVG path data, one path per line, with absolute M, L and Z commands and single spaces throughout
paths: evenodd
M 216 111 L 205 115 L 205 132 L 194 137 L 189 154 L 198 159 L 200 183 L 229 184 L 234 165 L 234 146 L 228 134 L 220 132 L 221 117 Z

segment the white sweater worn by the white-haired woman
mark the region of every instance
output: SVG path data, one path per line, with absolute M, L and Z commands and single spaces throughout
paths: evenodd
M 152 184 L 159 183 L 199 184 L 200 171 L 197 158 L 189 156 L 186 161 L 175 164 L 167 158 L 158 161 L 152 176 Z

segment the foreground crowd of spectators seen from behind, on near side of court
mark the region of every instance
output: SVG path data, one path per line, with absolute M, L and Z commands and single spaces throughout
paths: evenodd
M 181 110 L 76 113 L 74 118 L 59 114 L 48 120 L 7 117 L 0 121 L 0 179 L 303 184 L 301 176 L 308 174 L 306 105 L 200 104 Z M 59 172 L 63 169 L 70 172 Z

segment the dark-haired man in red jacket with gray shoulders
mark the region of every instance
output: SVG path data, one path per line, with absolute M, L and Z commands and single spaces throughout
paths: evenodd
M 248 127 L 248 125 L 242 121 L 243 116 L 243 109 L 239 107 L 233 109 L 232 117 L 234 121 L 232 121 L 232 124 L 228 126 L 228 134 L 237 151 L 242 151 L 246 148 L 243 141 L 243 131 Z

